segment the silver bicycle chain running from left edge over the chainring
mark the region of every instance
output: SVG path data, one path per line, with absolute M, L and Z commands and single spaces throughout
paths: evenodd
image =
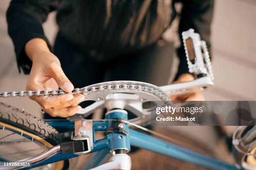
M 72 92 L 64 92 L 63 90 L 36 90 L 36 91 L 19 91 L 19 92 L 3 92 L 0 93 L 0 97 L 7 98 L 7 97 L 31 97 L 31 96 L 47 96 L 47 95 L 61 95 L 61 94 L 83 94 L 83 95 L 90 95 L 95 92 L 102 92 L 106 90 L 132 90 L 132 91 L 143 91 L 146 93 L 151 93 L 153 95 L 156 95 L 163 101 L 168 101 L 169 97 L 164 94 L 164 92 L 161 92 L 160 90 L 157 90 L 154 87 L 147 87 L 147 86 L 141 86 L 141 85 L 100 85 L 100 86 L 92 86 L 92 87 L 83 87 L 83 88 L 75 88 L 72 90 Z

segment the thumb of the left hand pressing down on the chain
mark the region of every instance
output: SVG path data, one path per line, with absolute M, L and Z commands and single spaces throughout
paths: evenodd
M 71 92 L 74 89 L 74 86 L 64 74 L 61 66 L 58 63 L 53 63 L 51 65 L 49 74 L 65 92 Z

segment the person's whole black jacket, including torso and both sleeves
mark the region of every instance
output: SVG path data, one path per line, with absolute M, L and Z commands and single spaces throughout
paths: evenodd
M 213 0 L 181 2 L 180 38 L 182 31 L 193 28 L 210 49 Z M 49 45 L 41 25 L 53 10 L 57 10 L 60 34 L 70 43 L 112 56 L 153 45 L 176 16 L 172 0 L 12 0 L 7 11 L 8 33 L 19 70 L 29 73 L 31 69 L 24 52 L 26 42 L 42 38 Z M 183 45 L 178 56 L 180 75 L 188 72 Z

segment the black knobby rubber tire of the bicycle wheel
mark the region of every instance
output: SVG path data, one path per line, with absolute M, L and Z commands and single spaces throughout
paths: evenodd
M 40 136 L 53 146 L 62 141 L 58 131 L 44 120 L 3 102 L 0 102 L 0 122 Z

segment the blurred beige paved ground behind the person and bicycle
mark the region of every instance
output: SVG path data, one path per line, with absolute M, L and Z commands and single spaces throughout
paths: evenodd
M 7 35 L 5 12 L 10 0 L 0 2 L 0 91 L 23 90 L 27 76 L 18 73 L 13 45 Z M 256 75 L 256 1 L 216 0 L 212 23 L 212 56 L 215 88 L 205 92 L 206 100 L 255 100 Z M 17 18 L 18 19 L 18 18 Z M 177 24 L 176 24 L 177 25 Z M 54 41 L 57 32 L 54 13 L 44 24 L 46 36 Z M 175 25 L 173 26 L 175 30 Z M 173 37 L 167 32 L 167 36 Z M 169 35 L 168 35 L 169 34 Z M 174 36 L 175 40 L 175 36 Z M 38 105 L 28 98 L 0 99 L 34 115 L 41 116 Z M 212 128 L 172 127 L 212 146 L 218 143 Z M 198 133 L 200 131 L 200 133 Z M 200 134 L 200 135 L 199 135 Z M 204 134 L 204 135 L 202 135 Z M 201 136 L 201 137 L 200 137 Z M 202 138 L 203 136 L 203 138 Z

